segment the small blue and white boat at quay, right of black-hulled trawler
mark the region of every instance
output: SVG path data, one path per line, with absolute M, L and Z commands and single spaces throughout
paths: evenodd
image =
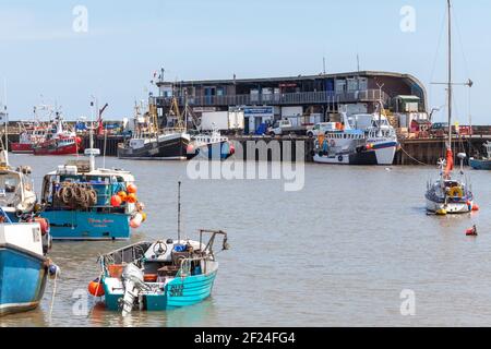
M 205 159 L 226 160 L 236 153 L 233 144 L 227 136 L 223 136 L 218 130 L 212 133 L 200 133 L 192 137 L 188 146 L 188 159 L 194 157 Z

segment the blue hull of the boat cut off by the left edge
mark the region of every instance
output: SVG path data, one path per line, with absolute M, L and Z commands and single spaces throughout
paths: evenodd
M 0 315 L 37 308 L 46 278 L 44 257 L 9 244 L 0 245 Z

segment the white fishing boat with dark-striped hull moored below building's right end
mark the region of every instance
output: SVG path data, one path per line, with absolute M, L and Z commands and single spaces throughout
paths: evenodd
M 342 112 L 340 127 L 315 140 L 314 161 L 332 165 L 393 165 L 398 147 L 397 135 L 382 110 L 381 106 L 379 113 L 351 118 Z M 369 127 L 355 125 L 354 120 L 358 118 L 370 120 Z

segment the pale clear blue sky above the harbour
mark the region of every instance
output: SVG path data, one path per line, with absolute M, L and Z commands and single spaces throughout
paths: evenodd
M 88 10 L 88 32 L 74 33 L 73 8 Z M 416 9 L 416 32 L 403 33 L 404 5 Z M 57 100 L 70 118 L 88 115 L 95 94 L 109 118 L 132 115 L 155 70 L 168 80 L 311 74 L 356 70 L 410 73 L 444 104 L 446 46 L 440 44 L 445 0 L 2 0 L 0 79 L 8 83 L 12 119 Z M 491 109 L 491 1 L 454 0 L 455 80 L 475 82 L 475 123 Z M 462 45 L 460 45 L 462 43 Z M 463 50 L 464 49 L 464 50 Z M 463 52 L 465 51 L 465 58 Z M 436 63 L 434 63 L 436 62 Z M 433 69 L 435 67 L 435 69 Z M 468 92 L 456 91 L 456 112 L 467 123 Z M 444 119 L 441 113 L 438 119 Z

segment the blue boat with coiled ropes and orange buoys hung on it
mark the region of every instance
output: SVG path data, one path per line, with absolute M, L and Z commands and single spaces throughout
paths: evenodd
M 49 219 L 55 240 L 127 240 L 131 228 L 146 219 L 136 197 L 133 174 L 122 169 L 95 167 L 94 128 L 87 159 L 69 160 L 43 181 L 43 217 Z

